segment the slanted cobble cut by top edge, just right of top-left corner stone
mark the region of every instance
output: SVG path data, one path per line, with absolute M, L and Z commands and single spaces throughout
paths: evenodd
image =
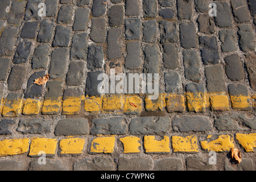
M 24 10 L 26 7 L 26 1 L 13 1 L 11 4 L 11 10 L 8 16 L 9 24 L 20 24 L 24 18 Z

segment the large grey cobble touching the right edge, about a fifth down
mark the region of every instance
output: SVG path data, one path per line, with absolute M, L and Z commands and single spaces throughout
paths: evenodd
M 243 52 L 255 51 L 255 39 L 253 31 L 249 24 L 241 24 L 238 26 L 239 45 Z

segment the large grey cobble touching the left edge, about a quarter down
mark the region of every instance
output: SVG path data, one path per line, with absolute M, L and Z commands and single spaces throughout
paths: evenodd
M 6 27 L 0 38 L 0 56 L 11 56 L 14 52 L 19 27 Z

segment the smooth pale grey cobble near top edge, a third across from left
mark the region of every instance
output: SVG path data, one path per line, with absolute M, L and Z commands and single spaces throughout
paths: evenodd
M 83 31 L 86 30 L 86 25 L 89 19 L 89 9 L 88 8 L 78 8 L 76 9 L 75 22 L 73 25 L 73 31 Z

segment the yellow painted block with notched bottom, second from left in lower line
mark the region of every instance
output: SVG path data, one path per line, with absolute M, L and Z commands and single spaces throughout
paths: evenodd
M 55 155 L 57 148 L 57 140 L 51 138 L 34 138 L 30 144 L 30 152 L 28 155 L 37 156 L 40 151 L 44 151 L 46 155 Z

